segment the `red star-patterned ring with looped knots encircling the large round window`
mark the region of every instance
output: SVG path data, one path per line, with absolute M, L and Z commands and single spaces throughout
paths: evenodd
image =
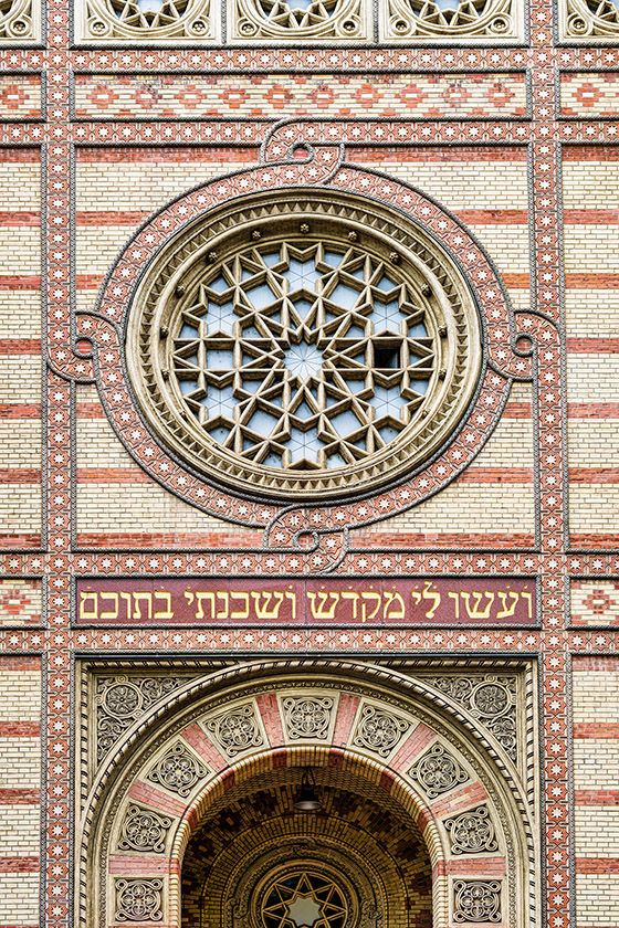
M 220 518 L 263 527 L 270 546 L 301 549 L 300 530 L 307 526 L 318 539 L 346 534 L 347 528 L 384 519 L 417 505 L 447 486 L 479 453 L 494 430 L 514 380 L 529 380 L 533 372 L 532 342 L 541 320 L 532 314 L 514 312 L 492 261 L 474 236 L 448 211 L 415 188 L 386 176 L 344 161 L 344 147 L 321 145 L 311 125 L 276 126 L 266 138 L 261 165 L 201 184 L 178 198 L 147 221 L 119 255 L 103 285 L 97 310 L 76 319 L 76 338 L 87 339 L 92 352 L 81 351 L 65 359 L 62 352 L 50 358 L 52 366 L 77 381 L 96 380 L 104 408 L 118 436 L 136 461 L 162 486 L 185 502 Z M 297 157 L 301 152 L 301 158 Z M 442 435 L 442 445 L 431 447 L 430 456 L 413 462 L 412 472 L 395 468 L 395 483 L 380 481 L 365 491 L 365 496 L 346 499 L 318 496 L 311 506 L 269 498 L 256 484 L 253 497 L 237 494 L 228 486 L 216 486 L 195 466 L 188 464 L 161 440 L 154 440 L 136 403 L 127 371 L 124 327 L 134 296 L 148 276 L 161 250 L 175 235 L 200 226 L 217 215 L 222 204 L 242 203 L 251 196 L 282 196 L 292 191 L 288 209 L 294 215 L 295 201 L 303 191 L 323 189 L 329 197 L 348 198 L 363 211 L 364 203 L 384 210 L 395 221 L 396 249 L 403 246 L 407 234 L 397 231 L 398 215 L 409 229 L 417 229 L 427 243 L 451 261 L 469 291 L 479 314 L 483 334 L 478 381 L 459 421 Z M 352 199 L 350 199 L 352 198 Z M 250 211 L 251 212 L 251 211 Z M 260 210 L 259 210 L 260 212 Z M 266 212 L 260 221 L 266 220 Z M 255 229 L 255 218 L 246 219 L 248 235 Z M 252 225 L 253 223 L 253 225 Z M 208 253 L 208 230 L 203 243 Z M 83 341 L 81 342 L 83 347 Z M 105 351 L 103 350 L 105 348 Z M 101 349 L 101 350 L 99 350 Z M 78 363 L 77 363 L 78 359 Z M 442 434 L 442 433 L 441 433 Z M 458 446 L 454 439 L 460 436 Z M 403 453 L 403 452 L 402 452 Z M 400 470 L 398 470 L 398 467 Z M 388 471 L 389 472 L 389 471 Z M 412 476 L 411 476 L 412 473 Z M 381 478 L 382 479 L 382 478 Z M 371 484 L 371 486 L 370 486 Z M 373 495 L 368 496 L 368 493 Z M 350 494 L 352 491 L 348 491 Z M 293 494 L 294 498 L 294 494 Z M 288 495 L 290 500 L 290 495 Z M 313 514 L 313 518 L 311 518 Z M 336 526 L 337 528 L 328 528 Z M 316 544 L 319 544 L 317 540 Z M 345 546 L 345 539 L 342 540 Z M 329 546 L 333 549 L 333 542 Z M 332 557 L 333 560 L 333 557 Z

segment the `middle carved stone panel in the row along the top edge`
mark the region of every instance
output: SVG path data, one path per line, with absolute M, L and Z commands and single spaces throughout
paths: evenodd
M 368 0 L 235 0 L 231 4 L 230 34 L 238 40 L 371 39 Z

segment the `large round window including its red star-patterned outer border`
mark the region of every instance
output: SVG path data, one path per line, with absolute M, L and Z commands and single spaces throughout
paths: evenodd
M 97 320 L 77 320 L 105 349 L 98 386 L 130 453 L 245 524 L 294 502 L 349 525 L 415 505 L 472 460 L 511 380 L 531 376 L 501 283 L 451 217 L 334 166 L 333 149 L 303 150 L 158 213 Z

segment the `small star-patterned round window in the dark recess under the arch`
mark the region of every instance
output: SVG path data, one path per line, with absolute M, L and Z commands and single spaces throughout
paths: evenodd
M 262 898 L 263 928 L 344 928 L 347 914 L 337 884 L 311 871 L 282 876 Z

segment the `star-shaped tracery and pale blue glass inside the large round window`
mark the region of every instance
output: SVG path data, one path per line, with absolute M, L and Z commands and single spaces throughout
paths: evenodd
M 415 418 L 434 375 L 424 300 L 355 246 L 252 246 L 206 273 L 176 318 L 171 370 L 187 413 L 270 468 L 375 454 Z

